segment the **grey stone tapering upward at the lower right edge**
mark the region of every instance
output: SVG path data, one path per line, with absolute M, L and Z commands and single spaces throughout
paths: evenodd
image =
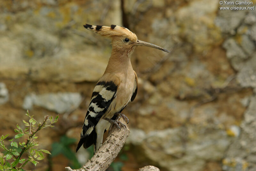
M 222 160 L 223 170 L 242 171 L 254 170 L 256 167 L 255 142 L 256 136 L 256 97 L 250 98 L 250 105 L 244 113 L 244 121 L 241 124 L 241 136 L 236 138 L 228 148 L 226 157 Z

